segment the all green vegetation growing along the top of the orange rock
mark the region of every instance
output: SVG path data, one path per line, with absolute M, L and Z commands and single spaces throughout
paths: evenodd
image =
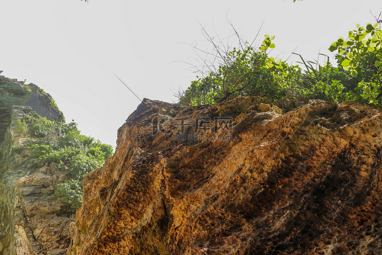
M 275 36 L 265 35 L 257 49 L 239 36 L 239 47 L 233 49 L 213 44 L 213 60 L 199 69 L 201 77 L 178 94 L 182 105 L 215 105 L 237 96 L 259 95 L 278 101 L 283 107 L 290 102 L 307 102 L 323 99 L 334 102 L 353 100 L 382 105 L 382 31 L 380 20 L 373 25 L 349 31 L 348 39 L 339 38 L 330 46 L 337 51 L 333 66 L 326 56 L 323 65 L 305 61 L 300 55 L 305 71 L 280 58 L 268 55 L 275 48 Z M 205 31 L 204 31 L 205 32 Z M 217 63 L 217 64 L 215 64 Z

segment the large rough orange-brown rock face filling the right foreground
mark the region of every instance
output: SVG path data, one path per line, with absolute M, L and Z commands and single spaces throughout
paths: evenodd
M 381 114 L 145 99 L 84 180 L 68 254 L 381 254 Z

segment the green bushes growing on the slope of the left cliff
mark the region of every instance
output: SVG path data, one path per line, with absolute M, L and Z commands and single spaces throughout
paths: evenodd
M 81 205 L 84 176 L 101 167 L 113 155 L 113 147 L 81 135 L 74 121 L 54 122 L 37 114 L 25 120 L 32 136 L 28 141 L 32 157 L 44 164 L 53 163 L 70 175 L 68 181 L 57 186 L 54 195 L 66 202 L 68 212 L 74 213 Z

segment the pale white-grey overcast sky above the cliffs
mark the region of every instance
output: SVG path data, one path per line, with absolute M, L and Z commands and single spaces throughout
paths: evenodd
M 331 57 L 328 47 L 357 23 L 375 23 L 376 0 L 127 1 L 0 0 L 0 70 L 34 83 L 82 134 L 116 145 L 117 130 L 150 98 L 175 103 L 212 52 L 202 28 L 232 47 L 231 24 L 258 46 L 274 35 L 270 56 L 297 64 L 301 54 Z M 319 60 L 319 61 L 322 61 Z M 117 75 L 139 98 L 135 97 Z

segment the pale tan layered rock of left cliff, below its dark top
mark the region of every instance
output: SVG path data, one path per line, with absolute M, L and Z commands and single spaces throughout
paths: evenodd
M 17 119 L 30 107 L 14 107 L 9 129 L 1 144 L 0 254 L 66 254 L 70 244 L 65 203 L 53 196 L 67 173 L 43 165 L 30 156 L 25 138 L 16 131 Z

